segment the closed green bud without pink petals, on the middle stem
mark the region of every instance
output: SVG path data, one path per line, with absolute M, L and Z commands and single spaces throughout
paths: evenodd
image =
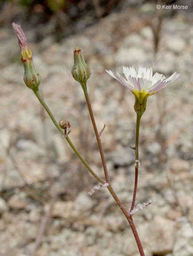
M 74 50 L 75 64 L 72 68 L 72 76 L 79 83 L 85 83 L 91 76 L 91 69 L 85 63 L 82 52 L 79 47 Z

